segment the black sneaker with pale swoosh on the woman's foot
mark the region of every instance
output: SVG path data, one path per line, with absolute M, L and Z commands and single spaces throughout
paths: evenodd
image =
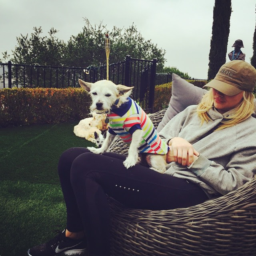
M 60 256 L 83 255 L 86 256 L 86 242 L 84 239 L 71 239 L 66 237 L 64 231 L 56 230 L 59 234 L 49 242 L 40 244 L 28 250 L 29 256 Z

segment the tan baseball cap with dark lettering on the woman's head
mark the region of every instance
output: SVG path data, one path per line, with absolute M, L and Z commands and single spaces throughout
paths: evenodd
M 215 78 L 203 86 L 233 96 L 242 91 L 253 92 L 256 86 L 256 69 L 244 60 L 232 60 L 222 65 Z

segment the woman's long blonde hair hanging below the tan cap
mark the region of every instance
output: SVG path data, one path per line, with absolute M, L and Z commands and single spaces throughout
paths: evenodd
M 236 125 L 244 120 L 246 120 L 255 110 L 254 104 L 254 95 L 252 92 L 244 91 L 243 94 L 244 99 L 242 102 L 236 107 L 236 111 L 233 115 L 226 117 L 226 120 L 222 120 L 217 130 L 222 130 L 226 127 L 230 127 Z M 208 116 L 208 110 L 212 108 L 213 105 L 213 96 L 212 96 L 212 88 L 207 92 L 201 102 L 198 104 L 196 112 L 201 120 L 201 125 L 204 122 L 208 122 L 211 118 Z M 227 120 L 228 119 L 228 120 Z

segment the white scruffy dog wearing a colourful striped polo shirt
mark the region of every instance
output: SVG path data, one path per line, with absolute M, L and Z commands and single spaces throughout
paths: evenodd
M 102 154 L 109 148 L 114 137 L 119 135 L 126 144 L 130 144 L 128 156 L 124 161 L 126 168 L 140 161 L 140 153 L 142 161 L 146 160 L 152 169 L 164 172 L 169 148 L 156 134 L 150 118 L 129 98 L 134 87 L 116 85 L 108 80 L 88 83 L 79 79 L 79 84 L 92 97 L 91 112 L 106 114 L 105 122 L 109 122 L 110 126 L 102 147 L 88 149 L 93 153 Z

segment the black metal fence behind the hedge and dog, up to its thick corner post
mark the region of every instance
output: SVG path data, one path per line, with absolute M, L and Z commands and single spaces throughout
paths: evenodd
M 115 84 L 134 86 L 132 98 L 151 112 L 154 104 L 157 60 L 140 60 L 126 56 L 122 62 L 110 64 L 109 80 Z M 0 63 L 0 88 L 67 88 L 80 87 L 78 78 L 86 82 L 106 79 L 106 65 L 87 68 Z

